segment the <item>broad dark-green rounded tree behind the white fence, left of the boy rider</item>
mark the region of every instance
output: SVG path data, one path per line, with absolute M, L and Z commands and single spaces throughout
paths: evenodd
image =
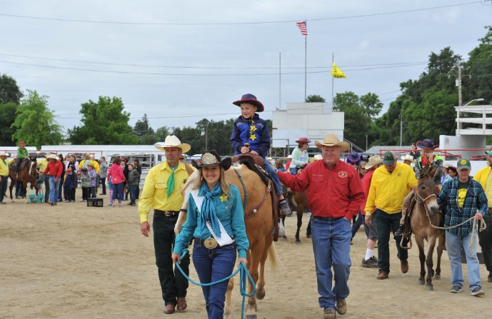
M 82 114 L 82 125 L 69 130 L 71 143 L 134 145 L 139 142 L 128 123 L 130 113 L 124 111 L 121 98 L 99 96 L 97 102 L 82 103 L 79 113 Z

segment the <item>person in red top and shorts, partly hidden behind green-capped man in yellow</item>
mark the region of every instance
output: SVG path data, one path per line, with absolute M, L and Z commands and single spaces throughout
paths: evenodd
M 371 188 L 373 173 L 376 171 L 376 168 L 381 165 L 383 165 L 383 158 L 379 155 L 371 156 L 366 164 L 366 170 L 368 171 L 362 178 L 362 189 L 364 190 L 366 198 L 369 194 L 369 188 Z M 366 208 L 366 201 L 364 201 L 361 206 L 361 212 L 365 216 L 366 211 L 364 211 L 364 208 Z M 364 229 L 366 230 L 367 235 L 367 249 L 366 257 L 363 258 L 361 266 L 365 268 L 379 268 L 378 259 L 374 257 L 374 248 L 376 247 L 376 240 L 378 239 L 376 219 L 371 220 L 364 217 Z

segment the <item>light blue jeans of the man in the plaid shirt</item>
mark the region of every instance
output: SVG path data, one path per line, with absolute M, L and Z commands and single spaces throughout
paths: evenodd
M 468 247 L 471 236 L 474 243 Z M 482 288 L 480 285 L 480 264 L 476 256 L 476 232 L 468 233 L 466 236 L 455 235 L 446 231 L 446 250 L 449 263 L 451 264 L 451 284 L 463 287 L 463 270 L 461 270 L 461 247 L 465 250 L 466 266 L 468 268 L 468 284 L 470 290 Z

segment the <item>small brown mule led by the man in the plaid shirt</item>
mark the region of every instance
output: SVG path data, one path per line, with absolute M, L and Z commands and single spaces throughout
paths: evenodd
M 443 216 L 439 213 L 437 203 L 436 194 L 438 193 L 438 188 L 433 181 L 434 173 L 436 173 L 436 168 L 430 172 L 423 171 L 418 178 L 415 194 L 416 203 L 413 206 L 410 216 L 411 231 L 415 235 L 415 241 L 418 246 L 418 258 L 421 262 L 421 274 L 418 278 L 418 284 L 423 285 L 424 283 L 424 277 L 426 275 L 425 262 L 427 265 L 427 278 L 425 281 L 427 290 L 433 290 L 432 277 L 434 275 L 436 280 L 441 279 L 441 255 L 443 254 L 441 240 L 443 240 L 444 232 L 433 227 L 440 226 L 441 221 L 443 221 Z M 437 238 L 439 238 L 439 245 L 437 246 L 436 272 L 434 273 L 432 259 Z M 423 240 L 427 240 L 428 242 L 427 255 L 423 250 Z M 408 248 L 411 248 L 411 241 Z

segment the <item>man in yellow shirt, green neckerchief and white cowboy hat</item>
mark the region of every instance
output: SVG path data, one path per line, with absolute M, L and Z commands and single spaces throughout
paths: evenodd
M 183 205 L 181 188 L 189 178 L 184 163 L 179 161 L 182 153 L 191 149 L 189 144 L 181 143 L 176 136 L 166 136 L 164 143 L 154 145 L 164 151 L 166 161 L 150 169 L 145 178 L 144 190 L 139 201 L 140 230 L 149 237 L 149 211 L 154 208 L 154 250 L 156 265 L 161 283 L 164 313 L 171 314 L 186 309 L 186 290 L 188 280 L 174 270 L 171 254 L 174 248 L 174 225 L 178 221 L 179 209 Z M 189 255 L 181 258 L 181 268 L 189 274 Z

